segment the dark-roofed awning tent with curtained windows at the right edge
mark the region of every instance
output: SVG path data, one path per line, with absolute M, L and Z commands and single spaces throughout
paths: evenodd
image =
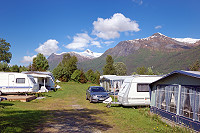
M 200 131 L 200 72 L 173 71 L 150 84 L 150 110 Z

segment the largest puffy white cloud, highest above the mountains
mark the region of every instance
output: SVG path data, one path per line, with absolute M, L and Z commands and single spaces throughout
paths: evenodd
M 93 22 L 93 35 L 106 40 L 120 37 L 120 32 L 140 31 L 138 23 L 126 18 L 121 13 L 115 13 L 111 18 L 98 18 Z

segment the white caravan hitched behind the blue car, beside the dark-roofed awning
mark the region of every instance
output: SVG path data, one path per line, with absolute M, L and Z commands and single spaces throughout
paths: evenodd
M 149 84 L 162 78 L 157 75 L 136 75 L 126 78 L 118 93 L 118 102 L 123 106 L 150 105 Z

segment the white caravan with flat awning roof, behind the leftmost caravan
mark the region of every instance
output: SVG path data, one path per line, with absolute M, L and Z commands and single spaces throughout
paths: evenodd
M 55 79 L 51 72 L 31 71 L 31 72 L 22 72 L 22 73 L 25 73 L 34 77 L 35 82 L 39 85 L 40 92 L 41 90 L 48 91 L 48 90 L 55 89 L 55 83 L 54 83 Z

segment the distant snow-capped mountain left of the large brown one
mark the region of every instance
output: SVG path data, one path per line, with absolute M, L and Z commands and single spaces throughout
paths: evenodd
M 48 58 L 48 63 L 50 70 L 53 70 L 63 59 L 63 55 L 69 53 L 71 56 L 76 56 L 78 63 L 97 58 L 102 55 L 102 53 L 95 53 L 87 49 L 84 52 L 63 52 L 60 54 L 52 53 Z

